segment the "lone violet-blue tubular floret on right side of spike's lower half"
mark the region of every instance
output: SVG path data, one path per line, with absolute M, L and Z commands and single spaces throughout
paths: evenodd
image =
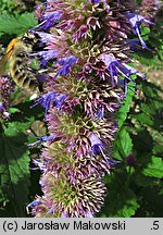
M 95 154 L 100 153 L 101 149 L 103 148 L 102 141 L 98 138 L 98 136 L 95 133 L 91 133 L 88 138 L 91 144 L 92 152 Z

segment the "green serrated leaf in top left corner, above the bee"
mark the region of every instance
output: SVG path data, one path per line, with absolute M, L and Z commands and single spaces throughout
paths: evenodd
M 0 14 L 0 36 L 21 35 L 37 25 L 33 13 L 21 15 Z

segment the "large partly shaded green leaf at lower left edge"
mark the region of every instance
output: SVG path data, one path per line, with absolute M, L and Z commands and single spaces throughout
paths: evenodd
M 10 123 L 0 135 L 1 190 L 10 200 L 15 217 L 25 217 L 25 205 L 28 201 L 30 159 L 25 141 L 26 136 L 17 123 Z

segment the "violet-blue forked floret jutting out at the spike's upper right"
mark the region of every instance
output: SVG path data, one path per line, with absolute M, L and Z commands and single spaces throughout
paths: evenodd
M 150 25 L 154 25 L 154 23 L 152 23 L 152 22 L 148 21 L 147 18 L 145 18 L 143 16 L 135 14 L 135 13 L 127 13 L 126 16 L 129 20 L 129 23 L 133 27 L 134 34 L 139 37 L 139 40 L 142 45 L 142 48 L 148 49 L 148 47 L 146 46 L 146 42 L 143 41 L 143 39 L 141 37 L 141 32 L 140 32 L 139 26 L 141 25 L 142 22 L 150 24 Z

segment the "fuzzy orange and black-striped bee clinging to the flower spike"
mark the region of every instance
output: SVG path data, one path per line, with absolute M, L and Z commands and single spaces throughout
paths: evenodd
M 25 33 L 10 41 L 5 54 L 0 60 L 0 74 L 4 74 L 7 64 L 9 64 L 10 75 L 15 84 L 30 91 L 39 89 L 36 70 L 32 67 L 32 59 L 29 58 L 35 44 L 35 36 Z

